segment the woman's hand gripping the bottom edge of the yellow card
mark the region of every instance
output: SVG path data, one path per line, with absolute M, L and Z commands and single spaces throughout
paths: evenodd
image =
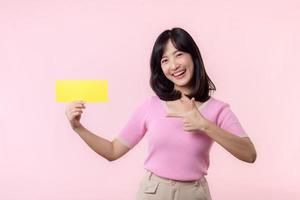
M 73 129 L 82 126 L 80 123 L 80 118 L 82 109 L 85 109 L 84 103 L 84 101 L 73 101 L 66 107 L 65 114 Z

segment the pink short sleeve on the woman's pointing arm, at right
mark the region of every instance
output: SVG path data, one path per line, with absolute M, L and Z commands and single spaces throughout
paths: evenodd
M 248 137 L 238 118 L 232 112 L 229 104 L 227 103 L 224 103 L 218 114 L 217 125 L 220 128 L 239 137 Z

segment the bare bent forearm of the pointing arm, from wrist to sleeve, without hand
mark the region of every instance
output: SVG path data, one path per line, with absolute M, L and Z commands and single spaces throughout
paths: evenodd
M 248 162 L 254 163 L 256 160 L 256 151 L 253 143 L 249 137 L 236 136 L 213 122 L 205 120 L 203 131 L 214 141 L 224 147 L 229 153 L 236 158 Z

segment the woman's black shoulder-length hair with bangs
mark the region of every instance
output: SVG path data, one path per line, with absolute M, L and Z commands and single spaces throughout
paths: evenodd
M 210 92 L 216 90 L 216 87 L 205 71 L 198 46 L 190 34 L 182 28 L 165 30 L 156 39 L 150 59 L 151 88 L 162 100 L 172 101 L 181 98 L 181 92 L 174 89 L 174 83 L 164 75 L 161 68 L 161 58 L 169 39 L 176 49 L 189 53 L 194 63 L 194 73 L 190 82 L 192 92 L 185 95 L 190 99 L 195 97 L 196 101 L 205 102 L 210 98 Z

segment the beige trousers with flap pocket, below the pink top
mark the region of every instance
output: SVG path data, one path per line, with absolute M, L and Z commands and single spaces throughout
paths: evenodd
M 137 200 L 211 200 L 206 178 L 175 181 L 147 171 L 137 193 Z

